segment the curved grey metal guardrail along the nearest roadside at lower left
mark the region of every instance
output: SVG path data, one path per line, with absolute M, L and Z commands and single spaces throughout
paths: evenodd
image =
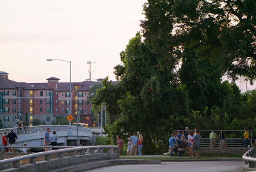
M 6 146 L 6 148 L 32 148 L 32 146 Z M 48 148 L 49 146 L 35 146 L 36 148 Z M 52 148 L 57 148 L 60 146 L 52 146 Z M 63 146 L 62 146 L 63 147 Z M 12 163 L 12 168 L 20 168 L 20 160 L 29 159 L 29 164 L 36 164 L 36 157 L 44 156 L 44 160 L 51 161 L 51 155 L 57 154 L 58 159 L 63 159 L 63 153 L 69 153 L 70 157 L 75 157 L 75 153 L 90 154 L 90 153 L 104 153 L 103 150 L 106 149 L 108 153 L 118 153 L 118 146 L 76 146 L 73 148 L 65 148 L 60 150 L 50 150 L 47 152 L 32 153 L 29 155 L 23 155 L 20 157 L 15 157 L 11 159 L 0 160 L 1 164 Z M 96 151 L 97 150 L 97 151 Z

